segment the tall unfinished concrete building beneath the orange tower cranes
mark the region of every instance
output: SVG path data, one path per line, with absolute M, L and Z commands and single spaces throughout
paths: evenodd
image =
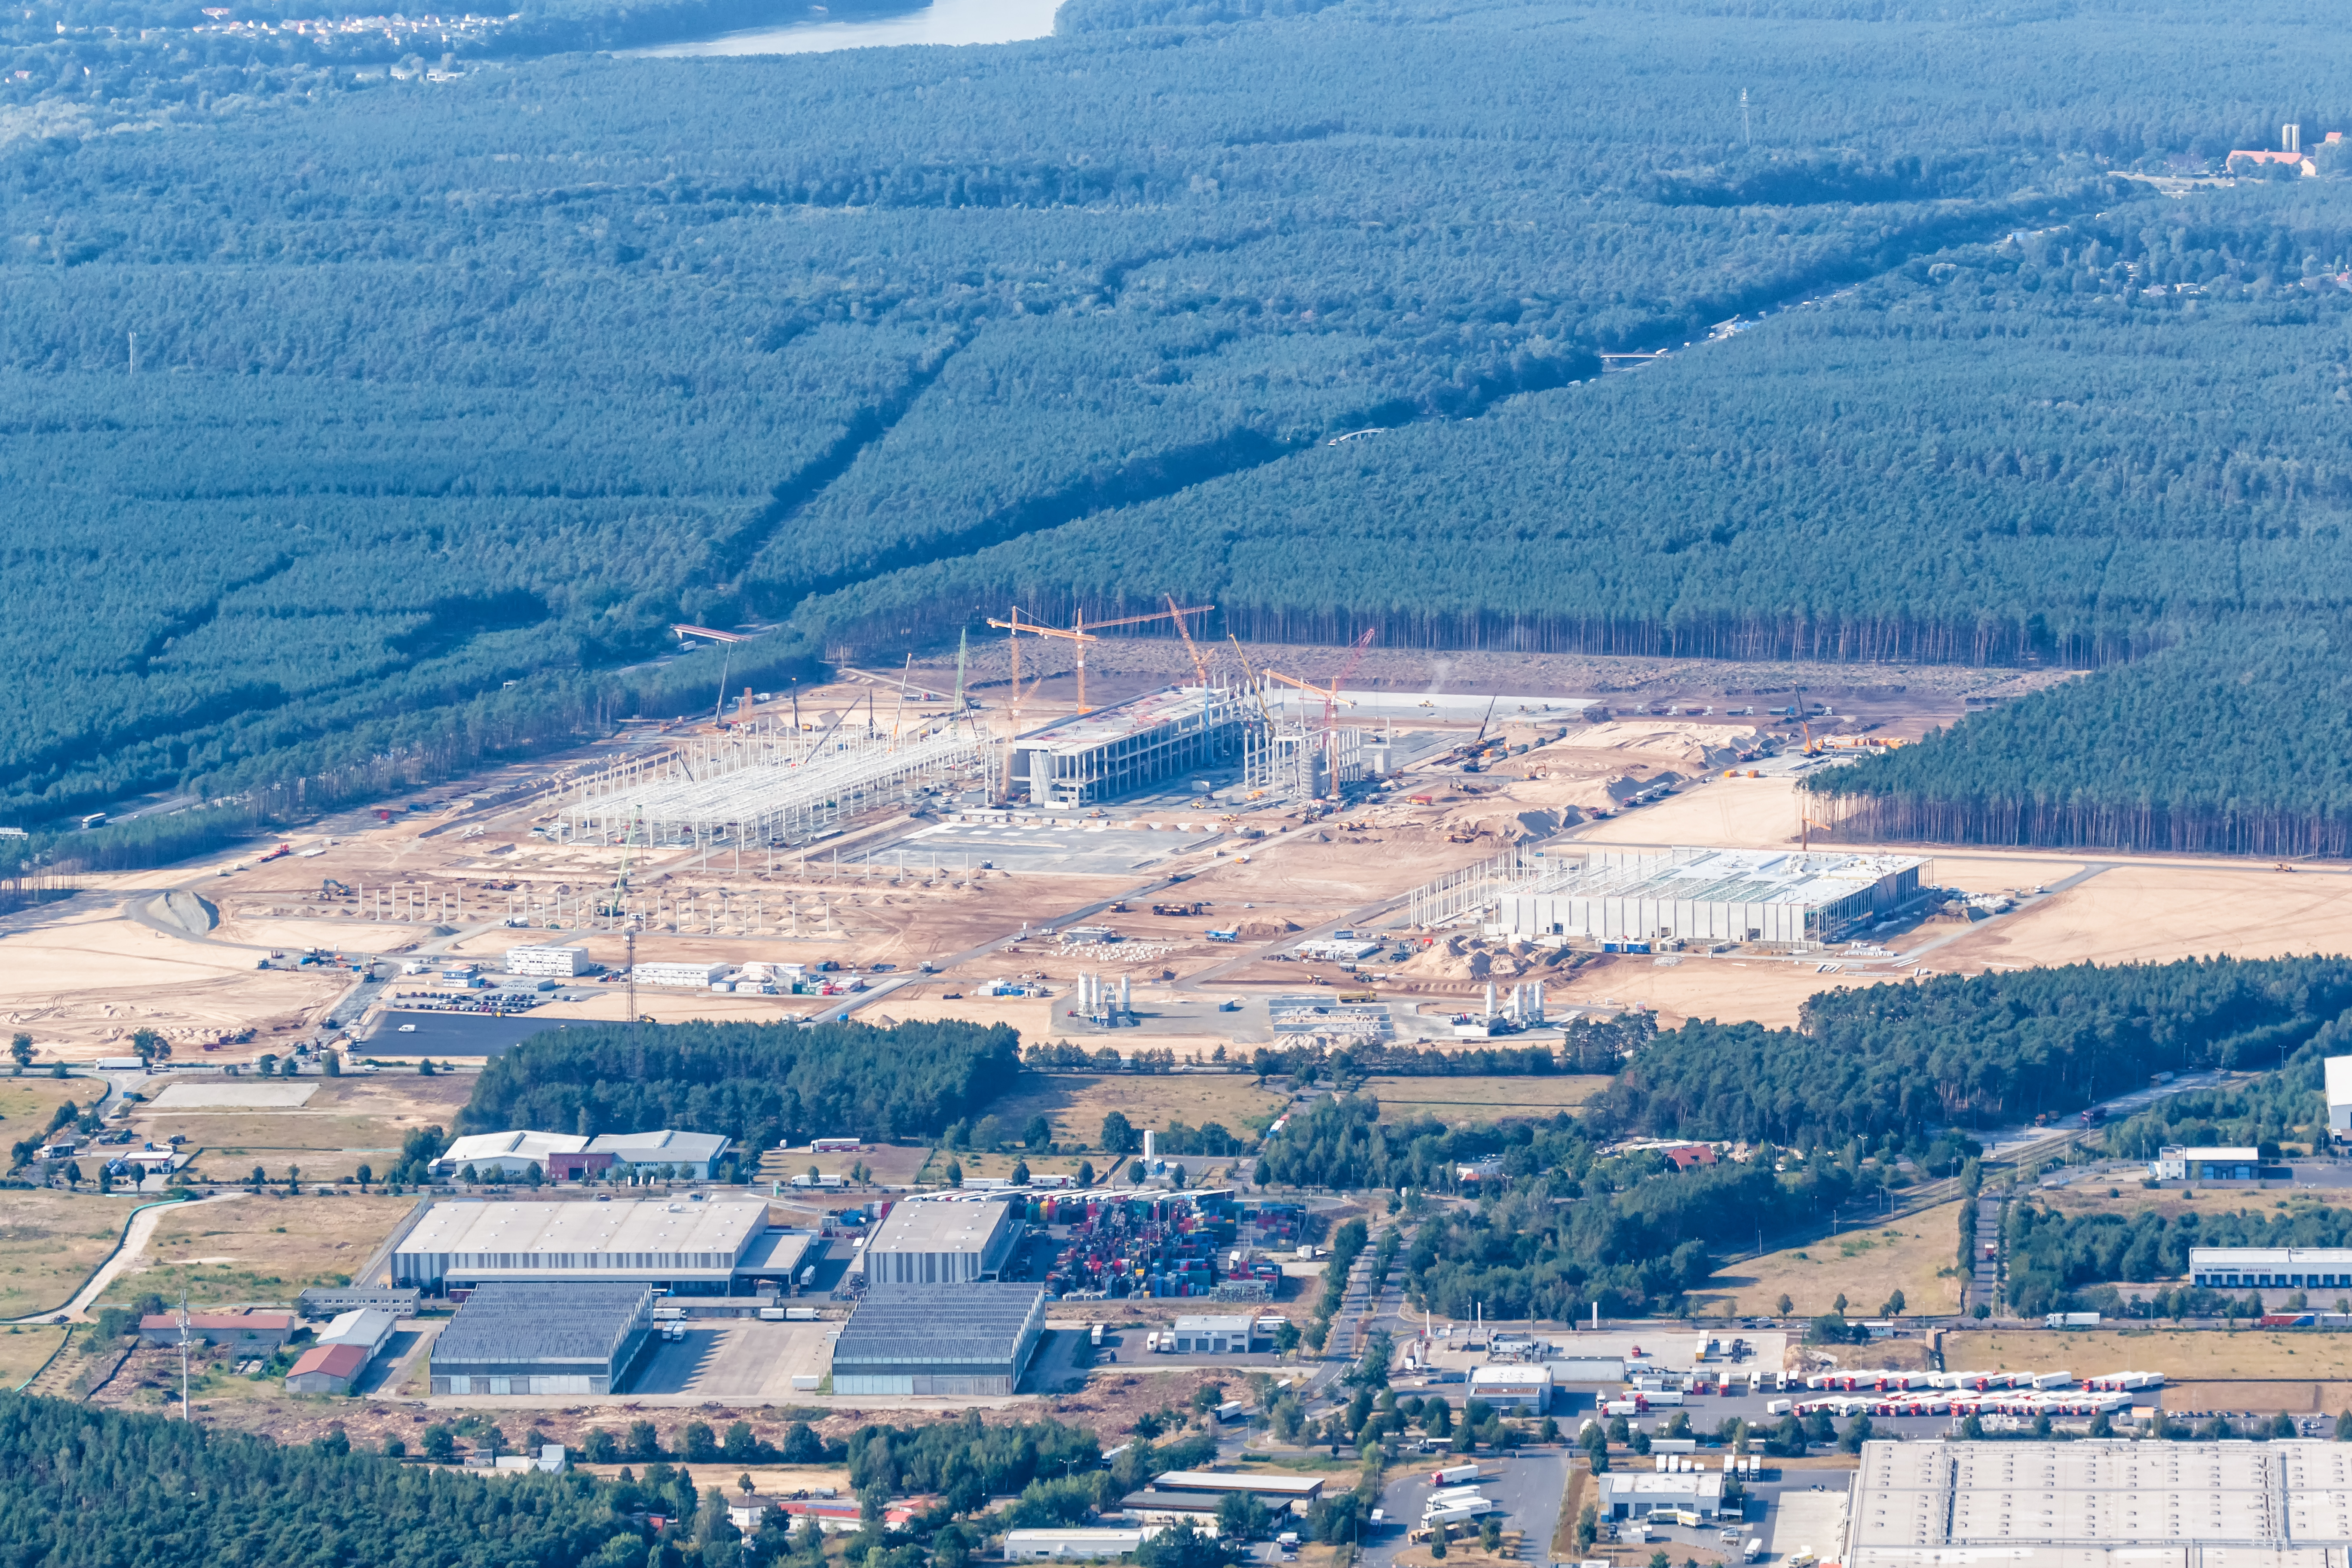
M 1254 710 L 1251 710 L 1254 717 Z M 1242 752 L 1244 701 L 1223 686 L 1162 686 L 1014 736 L 1007 797 L 1089 806 Z

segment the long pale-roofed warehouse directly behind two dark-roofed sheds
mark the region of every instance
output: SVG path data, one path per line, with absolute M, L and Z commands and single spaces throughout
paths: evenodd
M 426 1295 L 494 1281 L 644 1284 L 673 1295 L 786 1288 L 816 1237 L 767 1204 L 433 1204 L 393 1244 L 390 1276 Z

